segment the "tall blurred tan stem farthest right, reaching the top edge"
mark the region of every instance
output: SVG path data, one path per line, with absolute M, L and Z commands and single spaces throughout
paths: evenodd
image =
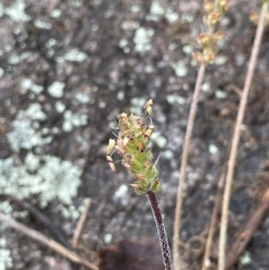
M 228 210 L 230 205 L 230 189 L 232 184 L 232 179 L 234 175 L 234 167 L 236 163 L 236 156 L 238 152 L 238 144 L 239 144 L 239 135 L 240 135 L 240 127 L 243 122 L 245 109 L 247 106 L 247 96 L 250 89 L 250 85 L 252 82 L 255 66 L 256 66 L 256 58 L 258 55 L 258 51 L 261 45 L 261 40 L 263 37 L 263 31 L 265 27 L 265 15 L 268 10 L 268 1 L 266 1 L 261 9 L 259 22 L 256 29 L 256 38 L 254 41 L 254 46 L 251 51 L 251 57 L 249 60 L 249 65 L 247 69 L 247 76 L 244 85 L 244 89 L 242 92 L 242 97 L 239 105 L 238 118 L 234 129 L 234 134 L 231 143 L 230 149 L 230 159 L 228 162 L 228 172 L 226 178 L 226 184 L 223 195 L 223 205 L 222 205 L 222 213 L 221 213 L 221 233 L 220 233 L 220 248 L 219 248 L 219 270 L 225 269 L 225 251 L 226 251 L 226 239 L 227 239 L 227 223 L 228 223 Z

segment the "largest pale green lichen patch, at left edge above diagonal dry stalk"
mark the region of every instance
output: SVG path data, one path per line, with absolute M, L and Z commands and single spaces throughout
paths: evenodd
M 72 205 L 82 170 L 71 161 L 61 161 L 50 155 L 40 157 L 30 152 L 25 161 L 22 166 L 16 166 L 13 158 L 0 161 L 0 190 L 3 193 L 22 198 L 38 194 L 41 206 L 56 198 L 65 205 Z

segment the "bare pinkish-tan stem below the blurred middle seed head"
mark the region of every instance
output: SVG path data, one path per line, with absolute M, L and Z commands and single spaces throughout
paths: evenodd
M 175 222 L 174 222 L 174 237 L 173 237 L 173 265 L 175 270 L 180 270 L 180 260 L 179 260 L 179 231 L 180 231 L 180 217 L 181 217 L 181 208 L 183 202 L 183 186 L 186 178 L 186 169 L 187 169 L 187 157 L 188 157 L 188 148 L 189 143 L 194 127 L 195 122 L 195 114 L 197 109 L 197 102 L 199 97 L 199 92 L 201 88 L 201 84 L 204 80 L 204 71 L 205 64 L 202 63 L 200 65 L 196 83 L 195 83 L 195 93 L 193 97 L 193 101 L 191 104 L 190 113 L 187 120 L 187 132 L 185 135 L 185 143 L 184 149 L 182 153 L 181 167 L 180 167 L 180 177 L 178 179 L 178 196 L 177 196 L 177 205 L 176 205 L 176 213 L 175 213 Z

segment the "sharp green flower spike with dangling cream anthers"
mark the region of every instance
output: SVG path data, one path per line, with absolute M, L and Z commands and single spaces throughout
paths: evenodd
M 111 155 L 117 152 L 122 164 L 135 179 L 133 184 L 137 194 L 145 194 L 148 191 L 158 192 L 161 182 L 155 164 L 152 163 L 152 150 L 147 149 L 150 143 L 154 126 L 145 123 L 146 114 L 152 115 L 152 100 L 148 100 L 143 106 L 142 117 L 122 113 L 118 121 L 117 141 L 110 139 L 108 143 L 107 161 L 111 170 L 116 171 Z

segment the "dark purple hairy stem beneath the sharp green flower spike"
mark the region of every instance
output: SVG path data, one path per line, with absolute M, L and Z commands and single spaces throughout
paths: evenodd
M 173 269 L 172 260 L 170 256 L 169 244 L 167 240 L 164 223 L 161 217 L 161 210 L 159 208 L 158 201 L 156 199 L 155 194 L 152 191 L 148 191 L 147 195 L 152 206 L 152 213 L 153 213 L 155 224 L 158 231 L 163 264 L 165 266 L 165 270 L 172 270 Z

